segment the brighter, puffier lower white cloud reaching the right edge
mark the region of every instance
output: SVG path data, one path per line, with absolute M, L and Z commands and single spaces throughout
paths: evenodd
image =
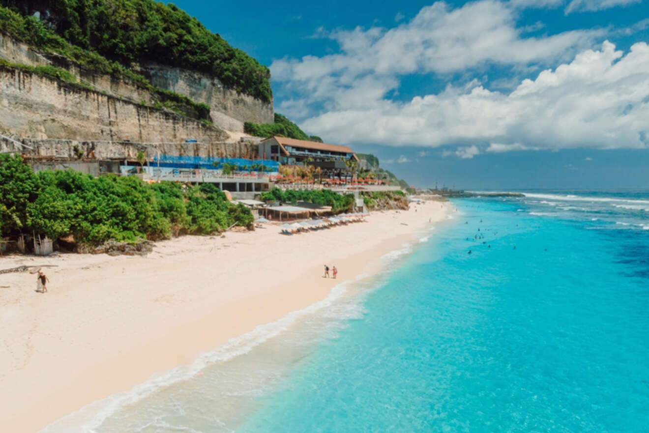
M 647 147 L 646 119 L 649 46 L 635 43 L 625 54 L 604 42 L 522 80 L 510 93 L 473 82 L 405 103 L 369 97 L 311 116 L 302 126 L 340 143 L 491 143 L 488 150 L 497 152 Z

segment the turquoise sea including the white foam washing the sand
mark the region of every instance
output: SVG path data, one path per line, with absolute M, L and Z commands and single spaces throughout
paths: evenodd
M 453 203 L 382 274 L 45 431 L 649 432 L 649 193 Z

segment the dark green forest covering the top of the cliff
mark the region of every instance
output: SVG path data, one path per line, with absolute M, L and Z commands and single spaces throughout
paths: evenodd
M 262 101 L 273 98 L 267 67 L 171 3 L 0 0 L 0 5 L 12 9 L 0 10 L 0 29 L 89 68 L 108 72 L 130 68 L 132 62 L 179 66 L 213 74 L 225 86 Z M 36 11 L 44 24 L 32 17 Z

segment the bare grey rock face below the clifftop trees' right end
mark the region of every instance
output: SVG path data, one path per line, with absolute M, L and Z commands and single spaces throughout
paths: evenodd
M 142 66 L 141 72 L 154 86 L 187 95 L 193 101 L 212 107 L 214 124 L 223 125 L 225 129 L 243 132 L 245 121 L 275 123 L 273 103 L 225 88 L 219 80 L 205 73 L 160 65 Z

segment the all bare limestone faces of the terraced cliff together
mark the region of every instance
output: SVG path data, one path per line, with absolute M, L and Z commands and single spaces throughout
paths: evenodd
M 225 88 L 219 80 L 205 73 L 157 65 L 136 68 L 151 79 L 154 86 L 209 105 L 210 118 L 216 127 L 212 129 L 193 119 L 147 107 L 156 101 L 156 96 L 140 83 L 80 68 L 67 58 L 40 52 L 2 32 L 0 59 L 66 69 L 95 90 L 3 68 L 0 74 L 0 131 L 17 136 L 138 142 L 174 142 L 191 138 L 222 142 L 228 136 L 221 129 L 243 132 L 244 121 L 273 121 L 272 103 Z

